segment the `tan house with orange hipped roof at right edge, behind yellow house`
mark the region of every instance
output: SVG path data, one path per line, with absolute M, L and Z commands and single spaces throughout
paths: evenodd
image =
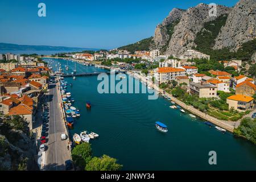
M 250 81 L 243 81 L 236 86 L 236 94 L 244 96 L 253 96 L 256 93 L 256 85 Z

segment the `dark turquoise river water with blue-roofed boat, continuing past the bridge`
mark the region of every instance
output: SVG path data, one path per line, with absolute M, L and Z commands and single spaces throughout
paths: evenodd
M 47 59 L 46 59 L 47 60 Z M 53 59 L 55 64 L 66 60 Z M 75 62 L 68 61 L 69 73 Z M 76 63 L 77 73 L 103 69 Z M 128 77 L 128 76 L 127 76 Z M 221 133 L 204 121 L 170 109 L 170 101 L 159 96 L 148 100 L 148 94 L 100 94 L 97 76 L 64 78 L 68 92 L 80 109 L 70 134 L 94 131 L 98 139 L 90 140 L 94 156 L 103 154 L 118 159 L 123 170 L 256 170 L 256 145 Z M 92 109 L 86 109 L 90 101 Z M 168 133 L 160 133 L 154 123 L 168 126 Z M 209 151 L 216 151 L 217 164 L 210 165 Z

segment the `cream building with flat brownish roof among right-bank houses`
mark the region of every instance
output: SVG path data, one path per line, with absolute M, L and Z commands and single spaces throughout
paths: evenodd
M 217 86 L 207 83 L 189 83 L 189 90 L 191 94 L 196 94 L 199 98 L 217 97 Z

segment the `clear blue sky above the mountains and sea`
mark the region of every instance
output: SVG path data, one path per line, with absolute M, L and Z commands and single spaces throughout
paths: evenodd
M 1 0 L 0 42 L 110 49 L 153 36 L 174 7 L 201 2 L 231 7 L 237 1 Z M 38 16 L 40 2 L 46 3 L 46 17 Z

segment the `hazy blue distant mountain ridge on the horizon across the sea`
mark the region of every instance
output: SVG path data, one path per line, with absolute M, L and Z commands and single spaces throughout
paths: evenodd
M 63 46 L 29 46 L 9 43 L 0 43 L 1 51 L 98 51 L 95 48 L 63 47 Z

